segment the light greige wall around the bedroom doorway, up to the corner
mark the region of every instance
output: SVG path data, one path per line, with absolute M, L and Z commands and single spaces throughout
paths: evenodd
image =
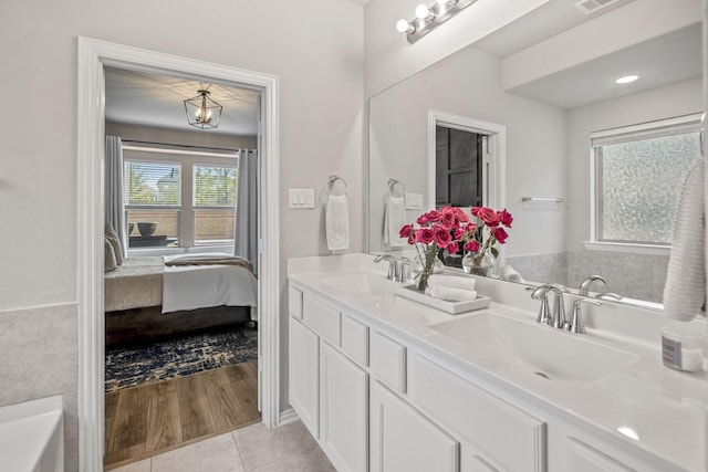
M 350 188 L 351 251 L 362 249 L 363 20 L 363 7 L 348 0 L 0 2 L 0 88 L 4 91 L 4 113 L 0 114 L 0 358 L 7 358 L 18 345 L 31 348 L 40 359 L 52 355 L 41 340 L 54 339 L 56 329 L 49 321 L 33 317 L 27 326 L 37 333 L 3 327 L 6 322 L 19 326 L 18 317 L 34 316 L 37 311 L 30 307 L 58 307 L 40 311 L 41 316 L 71 313 L 64 316 L 71 324 L 67 332 L 76 333 L 77 35 L 280 77 L 282 295 L 288 258 L 326 253 L 321 209 L 288 211 L 289 187 L 319 191 L 330 174 L 344 177 Z M 201 24 L 207 25 L 206 33 L 198 31 Z M 284 308 L 281 317 L 287 319 Z M 287 322 L 283 327 L 287 334 Z M 75 410 L 75 337 L 66 343 L 72 348 L 65 356 L 73 367 L 62 374 L 74 386 Z M 285 366 L 287 346 L 282 352 Z M 0 396 L 0 403 L 51 394 L 56 373 L 43 376 L 43 364 L 35 364 L 32 384 L 12 377 L 14 370 L 0 369 L 3 385 L 18 379 L 13 394 Z M 51 368 L 44 363 L 44 370 Z M 284 392 L 287 374 L 283 369 Z M 37 384 L 48 388 L 37 388 Z M 282 398 L 281 405 L 287 403 Z M 67 470 L 72 471 L 75 433 L 67 441 Z

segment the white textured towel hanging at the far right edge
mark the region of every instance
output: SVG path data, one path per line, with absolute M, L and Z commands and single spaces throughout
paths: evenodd
M 706 301 L 704 174 L 700 159 L 684 183 L 664 285 L 664 313 L 684 322 L 693 319 Z

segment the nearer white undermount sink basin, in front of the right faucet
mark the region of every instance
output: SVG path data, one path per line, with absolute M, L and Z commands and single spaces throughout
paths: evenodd
M 593 381 L 618 371 L 639 356 L 550 326 L 491 311 L 428 328 L 468 344 L 496 360 L 525 365 L 549 380 Z

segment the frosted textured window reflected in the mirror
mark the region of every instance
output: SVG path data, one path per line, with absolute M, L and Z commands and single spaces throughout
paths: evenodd
M 594 241 L 670 245 L 681 185 L 700 158 L 699 119 L 592 134 Z

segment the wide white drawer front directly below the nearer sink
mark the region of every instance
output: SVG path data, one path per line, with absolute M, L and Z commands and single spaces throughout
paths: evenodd
M 545 423 L 420 356 L 408 359 L 408 398 L 502 470 L 545 470 Z M 440 392 L 445 392 L 445 401 Z M 513 439 L 513 453 L 509 453 Z M 482 469 L 483 470 L 483 469 Z

